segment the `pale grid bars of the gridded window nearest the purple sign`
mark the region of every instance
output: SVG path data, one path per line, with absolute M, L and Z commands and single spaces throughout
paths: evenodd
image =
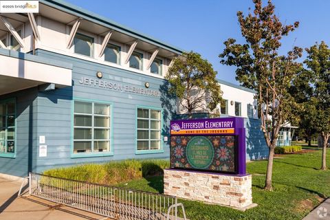
M 137 111 L 139 109 L 143 109 L 143 108 L 138 108 Z M 151 111 L 157 111 L 159 113 L 161 113 L 161 111 L 155 110 L 155 109 L 144 109 L 144 110 L 148 110 L 148 118 L 139 118 L 139 117 L 137 117 L 137 122 L 138 122 L 139 119 L 140 120 L 148 120 L 148 129 L 140 129 L 137 126 L 137 133 L 138 133 L 138 131 L 148 131 L 148 139 L 139 139 L 137 137 L 137 143 L 139 141 L 148 141 L 148 149 L 139 149 L 138 146 L 137 146 L 137 151 L 160 150 L 160 148 L 161 148 L 161 140 L 162 140 L 162 135 L 160 135 L 161 126 L 162 126 L 162 119 L 151 118 Z M 162 115 L 160 115 L 160 117 L 162 117 Z M 151 122 L 152 121 L 159 122 L 159 129 L 151 129 Z M 159 131 L 159 139 L 151 139 L 151 131 Z M 158 148 L 151 148 L 151 142 L 152 141 L 158 141 L 159 142 Z

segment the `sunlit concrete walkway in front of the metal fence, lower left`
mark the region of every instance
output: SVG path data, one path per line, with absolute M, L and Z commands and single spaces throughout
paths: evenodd
M 83 212 L 36 197 L 20 197 L 17 193 L 21 181 L 0 178 L 0 220 L 76 220 L 104 219 L 104 217 Z

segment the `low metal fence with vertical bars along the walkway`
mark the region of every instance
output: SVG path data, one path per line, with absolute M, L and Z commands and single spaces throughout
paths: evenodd
M 29 194 L 112 219 L 177 219 L 177 198 L 84 181 L 29 174 Z

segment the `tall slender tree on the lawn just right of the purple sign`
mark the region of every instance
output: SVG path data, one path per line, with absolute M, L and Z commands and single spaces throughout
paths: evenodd
M 288 88 L 301 64 L 296 59 L 303 50 L 294 47 L 287 55 L 278 54 L 281 39 L 298 28 L 299 23 L 283 25 L 274 14 L 271 1 L 263 7 L 261 0 L 254 0 L 254 10 L 244 16 L 237 12 L 244 44 L 235 39 L 224 42 L 219 55 L 221 63 L 236 66 L 236 80 L 245 87 L 256 90 L 261 129 L 269 148 L 265 189 L 272 190 L 274 148 L 281 125 L 296 118 L 296 102 Z

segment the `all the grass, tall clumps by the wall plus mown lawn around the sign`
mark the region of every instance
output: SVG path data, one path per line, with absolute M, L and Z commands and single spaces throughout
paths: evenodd
M 304 147 L 307 148 L 307 147 Z M 252 174 L 253 202 L 259 206 L 245 212 L 179 199 L 189 219 L 302 219 L 323 199 L 330 197 L 330 170 L 319 170 L 321 149 L 274 159 L 273 192 L 263 190 L 267 161 L 248 163 Z M 328 166 L 330 151 L 327 152 Z M 162 169 L 168 160 L 125 160 L 47 170 L 46 175 L 100 184 L 164 192 Z

